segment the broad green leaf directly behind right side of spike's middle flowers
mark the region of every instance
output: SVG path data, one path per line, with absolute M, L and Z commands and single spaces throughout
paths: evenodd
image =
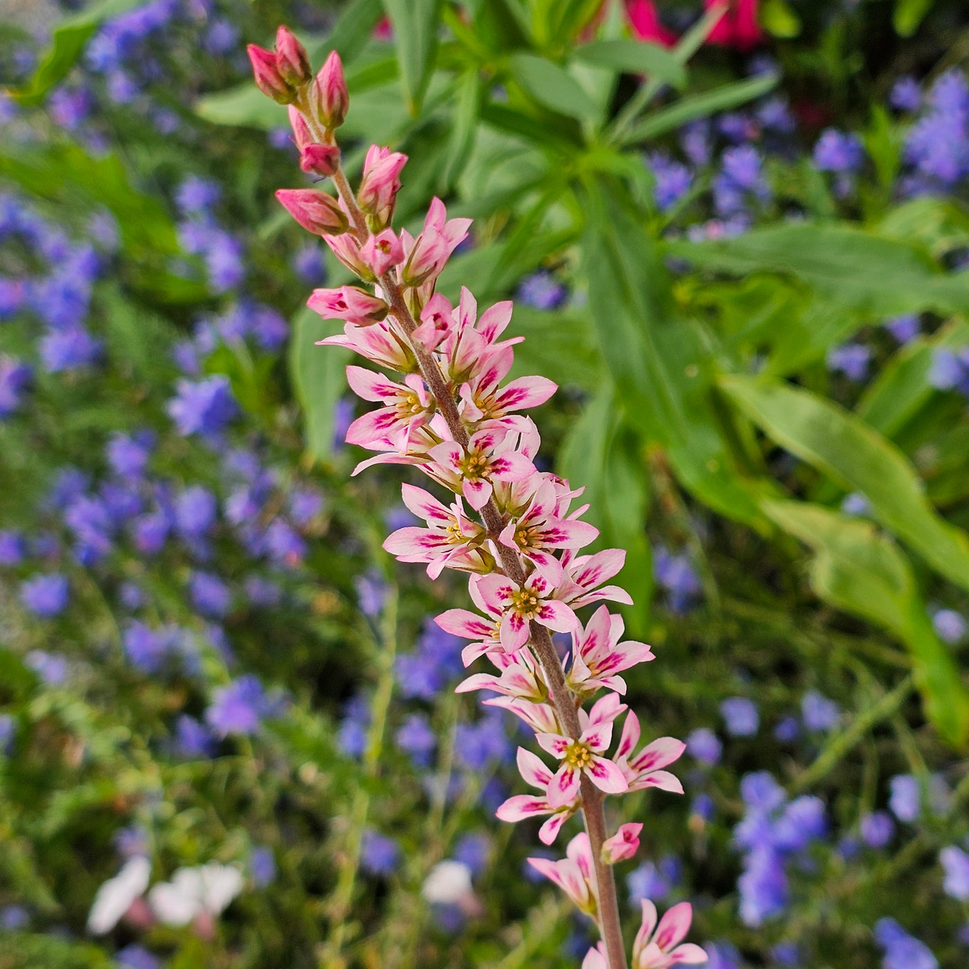
M 644 636 L 652 600 L 652 553 L 645 536 L 647 475 L 641 437 L 626 422 L 609 381 L 566 436 L 558 453 L 558 471 L 574 487 L 582 486 L 590 503 L 586 517 L 599 528 L 597 547 L 626 551 L 622 582 L 635 605 L 623 609 L 631 636 Z

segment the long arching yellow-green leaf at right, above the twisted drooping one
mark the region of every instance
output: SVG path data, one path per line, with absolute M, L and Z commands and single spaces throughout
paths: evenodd
M 786 383 L 741 376 L 720 383 L 782 448 L 860 491 L 886 528 L 969 588 L 969 537 L 936 514 L 915 468 L 890 441 L 838 404 Z

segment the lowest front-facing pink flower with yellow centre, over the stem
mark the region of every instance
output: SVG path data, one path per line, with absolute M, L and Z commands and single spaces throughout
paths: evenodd
M 623 772 L 610 760 L 600 756 L 612 742 L 612 721 L 626 709 L 614 693 L 608 693 L 586 713 L 578 711 L 582 733 L 578 739 L 556 734 L 539 734 L 536 739 L 542 747 L 562 761 L 548 785 L 548 803 L 552 807 L 568 804 L 578 795 L 581 774 L 600 791 L 622 794 L 629 785 Z

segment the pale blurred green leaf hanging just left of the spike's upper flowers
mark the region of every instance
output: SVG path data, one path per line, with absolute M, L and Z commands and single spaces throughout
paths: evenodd
M 353 354 L 343 347 L 314 344 L 342 329 L 339 320 L 321 320 L 307 308 L 293 321 L 290 376 L 302 407 L 306 452 L 318 461 L 333 453 L 336 402 L 347 391 L 345 369 Z

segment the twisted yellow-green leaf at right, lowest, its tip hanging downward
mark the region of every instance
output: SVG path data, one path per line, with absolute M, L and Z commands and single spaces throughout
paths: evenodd
M 885 627 L 908 646 L 928 719 L 947 742 L 963 746 L 969 739 L 969 692 L 932 629 L 898 547 L 870 522 L 818 505 L 768 501 L 764 510 L 814 549 L 809 575 L 820 598 Z

